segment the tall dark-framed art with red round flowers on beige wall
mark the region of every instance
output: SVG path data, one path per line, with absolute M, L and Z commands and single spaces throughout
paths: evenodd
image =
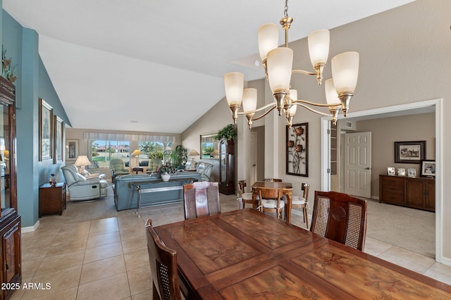
M 299 123 L 288 128 L 287 125 L 288 175 L 309 176 L 309 123 Z

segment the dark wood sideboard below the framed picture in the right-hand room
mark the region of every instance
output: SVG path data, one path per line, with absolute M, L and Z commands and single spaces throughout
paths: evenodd
M 435 211 L 435 178 L 379 175 L 379 202 Z

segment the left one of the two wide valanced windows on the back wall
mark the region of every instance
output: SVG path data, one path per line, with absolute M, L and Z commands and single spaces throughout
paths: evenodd
M 109 168 L 111 159 L 121 158 L 128 164 L 130 157 L 130 142 L 128 141 L 101 141 L 92 142 L 92 161 L 97 161 L 99 167 Z

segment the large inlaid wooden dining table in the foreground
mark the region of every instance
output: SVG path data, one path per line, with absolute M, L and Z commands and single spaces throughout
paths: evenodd
M 186 299 L 451 299 L 451 286 L 252 208 L 155 227 Z

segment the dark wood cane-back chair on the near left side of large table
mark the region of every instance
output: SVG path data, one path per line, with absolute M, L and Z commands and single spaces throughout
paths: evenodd
M 181 300 L 177 273 L 177 253 L 161 241 L 147 219 L 147 251 L 149 252 L 150 271 L 152 273 L 153 299 Z

